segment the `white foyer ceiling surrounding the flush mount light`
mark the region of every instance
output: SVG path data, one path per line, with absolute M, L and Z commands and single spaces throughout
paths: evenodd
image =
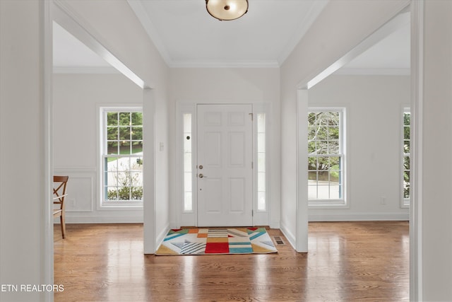
M 129 0 L 169 66 L 279 66 L 325 0 L 250 0 L 248 13 L 218 21 L 203 0 Z

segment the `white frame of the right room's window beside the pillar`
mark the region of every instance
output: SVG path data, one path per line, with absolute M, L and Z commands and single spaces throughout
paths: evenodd
M 308 198 L 309 209 L 338 209 L 338 208 L 349 208 L 350 204 L 348 202 L 348 190 L 347 190 L 347 118 L 346 118 L 346 108 L 343 107 L 310 107 L 308 108 L 308 114 L 311 112 L 339 112 L 340 114 L 340 124 L 339 124 L 339 154 L 340 160 L 340 180 L 341 180 L 341 194 L 339 199 L 311 199 Z M 307 154 L 307 159 L 309 158 Z M 307 165 L 307 163 L 306 163 Z M 309 180 L 308 180 L 309 182 Z M 308 185 L 308 184 L 307 184 Z

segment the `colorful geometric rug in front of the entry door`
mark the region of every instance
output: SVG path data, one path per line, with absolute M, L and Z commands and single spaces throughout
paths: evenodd
M 224 255 L 278 252 L 265 228 L 170 230 L 155 255 Z

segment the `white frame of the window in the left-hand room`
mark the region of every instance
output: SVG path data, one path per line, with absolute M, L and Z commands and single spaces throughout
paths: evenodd
M 99 117 L 99 169 L 100 169 L 100 184 L 99 184 L 99 196 L 100 202 L 98 204 L 98 209 L 143 209 L 143 199 L 141 200 L 126 200 L 126 201 L 109 201 L 105 198 L 105 158 L 112 157 L 111 154 L 106 152 L 106 139 L 107 139 L 107 112 L 141 112 L 143 113 L 143 107 L 141 105 L 114 105 L 114 106 L 100 106 L 98 108 Z M 119 156 L 120 157 L 120 156 Z M 124 156 L 125 157 L 125 156 Z M 141 158 L 143 160 L 143 155 L 133 155 L 130 154 L 127 157 L 131 158 Z

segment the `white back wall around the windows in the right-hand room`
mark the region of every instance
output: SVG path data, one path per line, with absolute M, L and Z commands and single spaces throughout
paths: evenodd
M 350 205 L 309 209 L 310 221 L 408 220 L 400 202 L 402 110 L 409 105 L 410 76 L 329 76 L 309 89 L 309 107 L 345 108 Z

